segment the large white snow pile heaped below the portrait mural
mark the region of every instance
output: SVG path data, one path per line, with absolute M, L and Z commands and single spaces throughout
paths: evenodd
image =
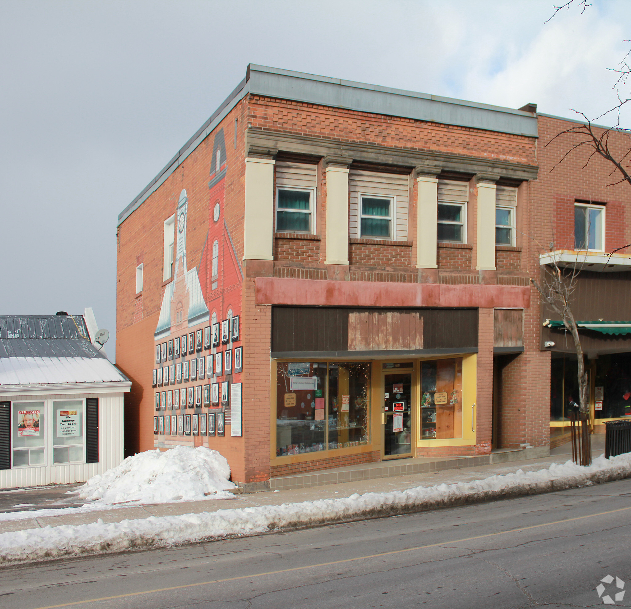
M 230 497 L 230 466 L 217 451 L 204 446 L 176 446 L 168 451 L 139 452 L 119 466 L 93 476 L 73 491 L 98 504 L 171 503 Z

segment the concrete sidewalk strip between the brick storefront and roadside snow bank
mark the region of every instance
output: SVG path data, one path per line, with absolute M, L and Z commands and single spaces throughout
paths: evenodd
M 600 441 L 599 441 L 600 440 Z M 593 456 L 602 454 L 604 446 L 604 435 L 602 439 L 596 435 L 593 437 Z M 557 447 L 550 451 L 550 456 L 540 459 L 528 459 L 525 461 L 511 461 L 504 464 L 489 464 L 471 468 L 459 468 L 454 470 L 443 470 L 435 473 L 418 473 L 413 475 L 393 476 L 391 478 L 376 478 L 374 480 L 363 480 L 360 482 L 346 482 L 340 484 L 295 488 L 291 490 L 276 490 L 259 492 L 254 494 L 234 495 L 229 499 L 205 499 L 202 501 L 179 502 L 170 504 L 151 504 L 144 506 L 121 506 L 110 507 L 109 509 L 99 509 L 89 512 L 67 513 L 58 516 L 37 516 L 28 517 L 29 511 L 41 509 L 43 504 L 26 506 L 22 504 L 24 517 L 2 521 L 0 520 L 0 533 L 8 531 L 21 531 L 23 529 L 44 528 L 45 526 L 60 526 L 62 524 L 89 524 L 101 519 L 104 523 L 119 523 L 123 520 L 135 520 L 148 518 L 150 516 L 179 516 L 180 514 L 191 514 L 200 512 L 215 512 L 220 509 L 233 509 L 240 507 L 274 506 L 280 504 L 298 503 L 302 501 L 313 501 L 317 499 L 338 499 L 348 497 L 352 494 L 363 494 L 368 492 L 391 492 L 394 490 L 406 490 L 419 486 L 431 487 L 437 484 L 452 484 L 456 482 L 471 482 L 493 475 L 505 475 L 519 469 L 524 471 L 536 471 L 548 468 L 552 463 L 565 463 L 572 458 L 570 444 Z M 454 463 L 455 464 L 455 463 Z M 64 488 L 57 488 L 56 497 L 64 496 L 67 490 L 76 488 L 78 485 L 69 485 Z M 52 489 L 55 490 L 55 489 Z M 60 495 L 61 491 L 61 495 Z M 45 497 L 42 489 L 24 489 L 18 491 L 24 498 L 28 493 L 33 493 L 33 499 L 39 494 Z M 66 504 L 55 501 L 55 507 L 68 507 L 77 505 L 77 495 L 65 495 Z M 27 502 L 25 502 L 27 503 Z M 47 503 L 50 506 L 50 502 Z M 20 509 L 13 506 L 9 511 L 15 512 Z

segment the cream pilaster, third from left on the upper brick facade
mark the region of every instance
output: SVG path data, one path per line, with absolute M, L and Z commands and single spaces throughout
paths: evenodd
M 416 178 L 416 267 L 438 268 L 438 179 L 435 174 Z

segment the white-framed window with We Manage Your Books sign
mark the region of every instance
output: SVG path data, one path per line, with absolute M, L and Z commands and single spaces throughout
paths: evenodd
M 83 400 L 56 401 L 53 410 L 53 463 L 85 461 Z

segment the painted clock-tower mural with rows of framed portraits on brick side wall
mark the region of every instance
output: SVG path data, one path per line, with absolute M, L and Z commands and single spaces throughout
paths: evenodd
M 203 206 L 208 217 L 189 218 L 186 189 L 180 192 L 175 212 L 173 280 L 165 287 L 155 330 L 153 432 L 158 445 L 177 444 L 174 436 L 191 435 L 198 446 L 203 436 L 225 435 L 228 425 L 232 435 L 242 435 L 243 273 L 224 218 L 227 170 L 221 129 L 213 141 L 207 206 Z M 199 264 L 192 269 L 186 251 L 189 221 L 208 226 Z

